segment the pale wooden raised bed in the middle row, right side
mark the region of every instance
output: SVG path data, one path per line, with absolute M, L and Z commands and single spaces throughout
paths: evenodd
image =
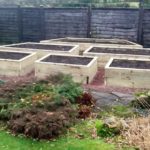
M 150 50 L 145 48 L 118 48 L 106 46 L 92 46 L 84 52 L 85 56 L 97 56 L 98 67 L 104 67 L 110 58 L 150 58 Z

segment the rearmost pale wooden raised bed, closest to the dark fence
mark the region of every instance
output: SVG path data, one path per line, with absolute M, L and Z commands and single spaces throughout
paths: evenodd
M 118 47 L 142 47 L 139 44 L 127 41 L 127 40 L 121 40 L 121 39 L 96 39 L 96 38 L 60 38 L 60 39 L 51 39 L 51 40 L 44 40 L 41 41 L 41 43 L 72 43 L 72 44 L 78 44 L 80 46 L 80 54 L 82 54 L 87 48 L 90 46 L 95 45 L 104 45 L 107 47 L 110 46 L 118 46 Z

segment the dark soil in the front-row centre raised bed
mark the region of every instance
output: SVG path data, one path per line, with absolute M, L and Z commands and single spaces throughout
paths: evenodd
M 92 60 L 92 58 L 88 58 L 88 57 L 71 57 L 71 56 L 50 55 L 49 57 L 43 59 L 42 62 L 88 65 L 91 62 L 91 60 Z

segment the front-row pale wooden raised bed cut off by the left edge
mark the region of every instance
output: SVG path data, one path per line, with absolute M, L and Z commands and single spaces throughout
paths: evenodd
M 23 76 L 34 70 L 36 53 L 0 50 L 0 75 Z

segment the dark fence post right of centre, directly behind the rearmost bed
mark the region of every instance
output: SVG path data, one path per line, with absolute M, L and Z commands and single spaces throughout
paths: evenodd
M 92 7 L 88 7 L 87 12 L 87 38 L 91 38 L 91 16 L 92 16 Z

